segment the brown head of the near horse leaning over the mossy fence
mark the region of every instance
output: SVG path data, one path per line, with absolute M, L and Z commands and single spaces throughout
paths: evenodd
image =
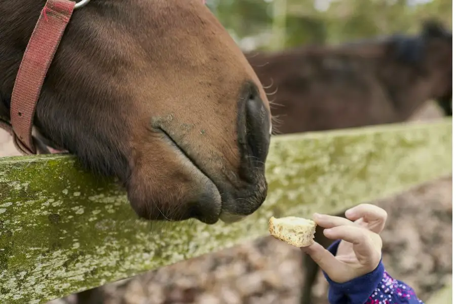
M 45 3 L 0 2 L 3 120 Z M 92 0 L 75 10 L 34 126 L 47 145 L 116 176 L 141 218 L 233 222 L 267 194 L 267 96 L 201 0 Z

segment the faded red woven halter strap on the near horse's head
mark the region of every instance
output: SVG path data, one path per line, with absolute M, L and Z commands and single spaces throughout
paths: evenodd
M 36 102 L 74 5 L 69 0 L 48 0 L 22 57 L 11 96 L 10 116 L 16 147 L 23 154 L 36 154 L 31 134 Z

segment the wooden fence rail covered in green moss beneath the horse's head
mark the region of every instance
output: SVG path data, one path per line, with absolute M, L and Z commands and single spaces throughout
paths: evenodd
M 244 221 L 138 220 L 70 156 L 0 159 L 0 303 L 43 303 L 268 235 L 270 216 L 334 213 L 451 174 L 451 120 L 274 137 L 268 199 Z

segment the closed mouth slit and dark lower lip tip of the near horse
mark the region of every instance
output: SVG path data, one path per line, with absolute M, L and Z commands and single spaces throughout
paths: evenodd
M 221 194 L 220 194 L 220 189 L 219 189 L 217 183 L 215 183 L 214 180 L 210 177 L 210 175 L 207 174 L 206 171 L 203 168 L 201 168 L 201 166 L 199 166 L 197 164 L 197 162 L 191 156 L 188 155 L 188 153 L 185 151 L 185 149 L 182 148 L 181 145 L 179 145 L 179 143 L 173 138 L 173 136 L 171 136 L 166 130 L 164 130 L 161 127 L 156 128 L 156 130 L 159 131 L 163 135 L 164 139 L 173 147 L 173 149 L 176 151 L 176 154 L 180 158 L 182 158 L 183 162 L 188 162 L 189 164 L 191 164 L 192 167 L 194 167 L 197 171 L 199 171 L 199 173 L 201 173 L 204 176 L 204 179 L 206 179 L 206 181 L 208 183 L 211 183 L 213 185 L 213 188 L 217 189 L 217 194 L 218 194 L 218 197 L 220 198 L 220 202 L 213 201 L 213 202 L 205 202 L 205 203 L 219 205 L 219 206 L 217 206 L 217 208 L 215 208 L 215 209 L 213 208 L 213 206 L 211 206 L 211 208 L 204 208 L 205 214 L 203 216 L 201 214 L 200 214 L 200 216 L 195 216 L 206 224 L 216 223 L 222 213 Z M 212 210 L 212 211 L 210 211 L 210 214 L 208 214 L 208 212 L 207 212 L 208 210 Z

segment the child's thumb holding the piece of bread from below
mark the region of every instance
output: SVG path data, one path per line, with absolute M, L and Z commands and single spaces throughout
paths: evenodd
M 308 247 L 301 247 L 301 250 L 309 254 L 330 278 L 337 277 L 339 272 L 344 271 L 344 264 L 317 242 Z

